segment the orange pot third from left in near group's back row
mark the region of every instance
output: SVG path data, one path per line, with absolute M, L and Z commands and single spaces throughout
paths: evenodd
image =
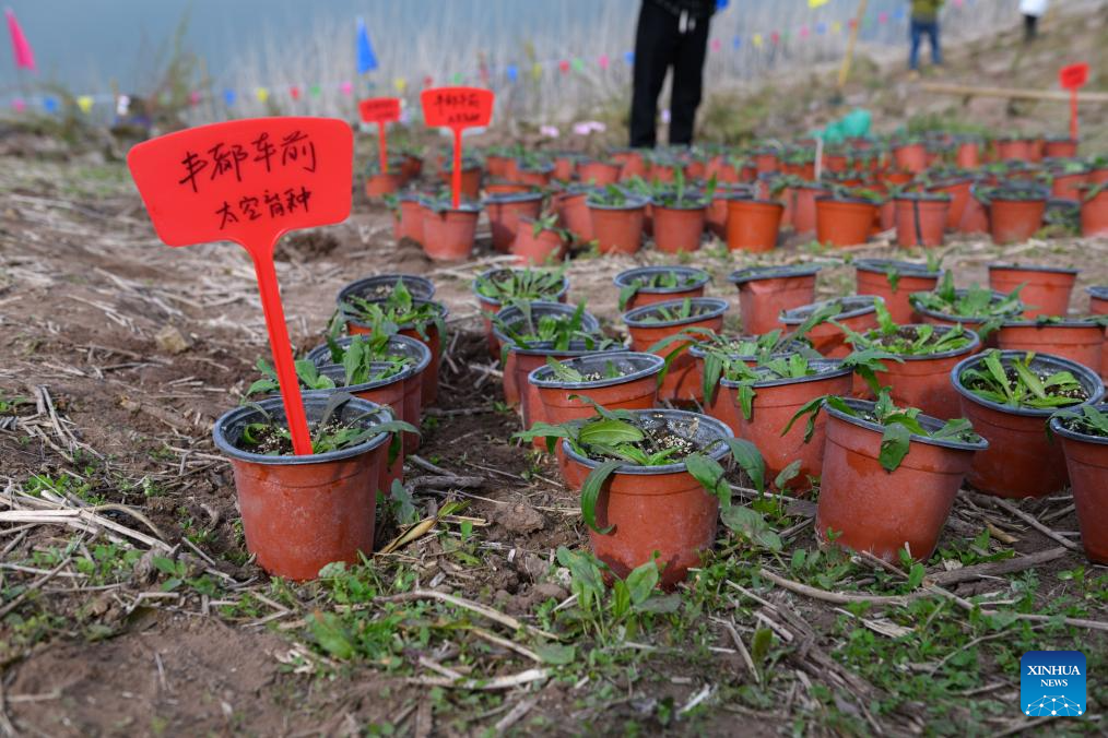
M 739 290 L 742 332 L 761 335 L 779 328 L 778 316 L 815 299 L 815 274 L 820 268 L 750 267 L 731 272 L 727 280 Z

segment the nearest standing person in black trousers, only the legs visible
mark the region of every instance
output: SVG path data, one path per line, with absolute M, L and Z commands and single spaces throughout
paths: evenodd
M 691 144 L 696 108 L 704 89 L 708 28 L 717 0 L 643 0 L 635 32 L 634 90 L 630 101 L 630 145 L 657 144 L 658 95 L 666 72 L 674 69 L 669 98 L 669 143 Z

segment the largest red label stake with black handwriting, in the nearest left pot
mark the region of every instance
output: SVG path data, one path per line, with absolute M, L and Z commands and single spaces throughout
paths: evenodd
M 249 252 L 293 450 L 311 454 L 274 246 L 287 231 L 339 222 L 350 215 L 349 124 L 310 117 L 217 123 L 138 144 L 127 154 L 127 166 L 165 243 L 234 241 Z

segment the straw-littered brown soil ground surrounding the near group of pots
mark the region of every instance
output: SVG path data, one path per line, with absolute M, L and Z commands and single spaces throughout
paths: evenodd
M 554 555 L 587 548 L 575 496 L 510 443 L 519 422 L 469 294 L 496 258 L 482 242 L 470 263 L 434 264 L 365 202 L 281 246 L 294 343 L 320 342 L 348 281 L 432 278 L 449 353 L 407 480 L 420 518 L 468 507 L 327 581 L 270 581 L 209 436 L 267 352 L 246 254 L 160 245 L 120 164 L 9 156 L 0 188 L 0 420 L 16 417 L 0 423 L 3 731 L 1003 735 L 1038 725 L 1016 711 L 1024 651 L 1108 666 L 1108 571 L 1075 550 L 1068 495 L 1008 508 L 964 492 L 923 589 L 820 552 L 814 505 L 784 501 L 767 508 L 783 553 L 721 529 L 676 612 L 582 613 Z M 793 245 L 767 260 L 827 262 L 831 297 L 852 288 L 844 260 L 890 253 Z M 1080 267 L 1078 312 L 1080 288 L 1108 282 L 1104 239 L 954 239 L 943 254 L 960 285 L 996 258 Z M 617 334 L 612 277 L 659 257 L 575 259 L 571 299 Z M 725 277 L 753 259 L 711 243 L 688 261 L 737 312 Z M 435 469 L 472 479 L 443 487 Z M 399 531 L 380 517 L 383 544 Z M 1090 676 L 1089 719 L 1064 730 L 1102 729 L 1104 684 Z

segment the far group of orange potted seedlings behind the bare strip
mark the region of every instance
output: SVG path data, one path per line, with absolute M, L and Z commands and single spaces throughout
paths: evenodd
M 523 264 L 557 261 L 591 243 L 603 253 L 634 253 L 646 236 L 661 251 L 690 251 L 705 232 L 732 250 L 766 251 L 787 227 L 831 246 L 864 243 L 890 229 L 904 247 L 938 246 L 950 230 L 988 232 L 1007 243 L 1033 237 L 1048 209 L 1079 208 L 1085 235 L 1108 232 L 1102 158 L 1001 158 L 966 166 L 929 156 L 921 168 L 905 152 L 923 150 L 922 143 L 879 146 L 829 148 L 818 178 L 814 146 L 803 142 L 745 156 L 716 147 L 620 150 L 599 158 L 490 152 L 484 165 L 465 159 L 466 199 L 458 208 L 442 195 L 441 183 L 390 197 L 398 238 L 451 261 L 471 254 L 482 212 L 494 250 L 515 253 Z M 442 166 L 445 183 L 449 157 Z

